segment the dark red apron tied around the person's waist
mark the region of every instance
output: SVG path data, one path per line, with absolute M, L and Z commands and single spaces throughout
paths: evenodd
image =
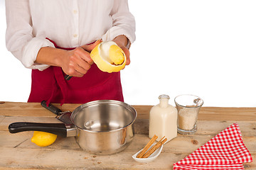
M 50 40 L 51 41 L 51 40 Z M 53 41 L 51 41 L 53 42 Z M 65 50 L 72 48 L 55 47 Z M 120 72 L 107 73 L 92 64 L 83 77 L 65 80 L 60 67 L 48 67 L 43 71 L 32 69 L 31 94 L 28 102 L 87 103 L 96 100 L 124 101 Z

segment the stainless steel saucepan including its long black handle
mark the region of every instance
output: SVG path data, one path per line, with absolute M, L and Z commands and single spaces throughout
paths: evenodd
M 63 137 L 75 136 L 78 145 L 92 154 L 124 150 L 134 137 L 137 112 L 121 101 L 92 101 L 75 108 L 70 125 L 64 123 L 12 123 L 9 132 L 43 131 Z

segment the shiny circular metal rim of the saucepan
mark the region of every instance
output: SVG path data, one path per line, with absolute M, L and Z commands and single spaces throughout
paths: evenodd
M 134 115 L 135 115 L 134 119 L 132 120 L 131 123 L 125 125 L 124 127 L 121 127 L 121 128 L 115 129 L 115 130 L 107 130 L 107 131 L 104 131 L 104 132 L 97 132 L 97 131 L 92 131 L 92 130 L 86 130 L 84 128 L 80 128 L 78 125 L 75 125 L 74 117 L 75 117 L 75 115 L 77 113 L 79 113 L 79 111 L 82 108 L 85 108 L 85 107 L 88 107 L 88 106 L 93 106 L 93 105 L 100 104 L 100 103 L 113 103 L 113 104 L 118 104 L 120 106 L 124 106 L 125 108 L 129 109 L 132 113 L 134 113 Z M 86 132 L 91 132 L 91 133 L 116 132 L 116 131 L 122 130 L 122 129 L 127 128 L 128 126 L 132 125 L 134 123 L 134 121 L 136 120 L 136 118 L 137 118 L 137 111 L 135 110 L 134 107 L 132 107 L 131 105 L 129 105 L 127 103 L 124 103 L 122 101 L 115 101 L 115 100 L 97 100 L 97 101 L 90 101 L 88 103 L 84 103 L 84 104 L 78 106 L 78 108 L 75 108 L 75 110 L 72 112 L 72 114 L 70 116 L 70 119 L 71 119 L 73 125 L 75 125 L 75 128 L 78 128 L 79 130 L 84 130 Z

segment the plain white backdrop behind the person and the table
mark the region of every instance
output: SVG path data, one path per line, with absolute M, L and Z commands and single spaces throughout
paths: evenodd
M 255 0 L 129 0 L 137 23 L 131 64 L 122 71 L 124 99 L 155 105 L 194 94 L 204 106 L 255 107 Z M 6 50 L 0 0 L 0 101 L 26 102 L 31 71 Z

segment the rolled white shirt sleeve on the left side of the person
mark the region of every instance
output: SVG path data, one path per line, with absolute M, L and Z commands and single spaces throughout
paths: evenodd
M 35 64 L 41 47 L 54 47 L 46 39 L 35 38 L 28 0 L 6 0 L 6 48 L 26 68 L 46 69 L 46 64 Z

